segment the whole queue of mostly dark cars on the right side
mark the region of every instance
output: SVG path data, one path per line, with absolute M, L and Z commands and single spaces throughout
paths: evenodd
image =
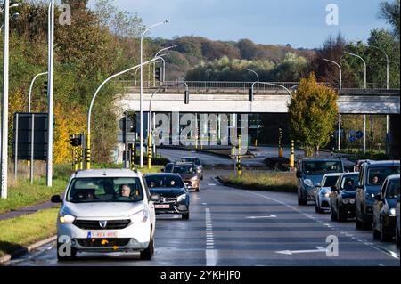
M 315 202 L 316 213 L 331 211 L 331 221 L 355 219 L 356 228 L 399 245 L 399 161 L 359 160 L 345 173 L 335 158 L 305 158 L 298 163 L 298 203 Z

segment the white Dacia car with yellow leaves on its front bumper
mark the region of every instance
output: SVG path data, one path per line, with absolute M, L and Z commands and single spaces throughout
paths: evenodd
M 77 252 L 154 252 L 155 210 L 143 175 L 126 169 L 86 170 L 72 174 L 57 217 L 57 257 Z

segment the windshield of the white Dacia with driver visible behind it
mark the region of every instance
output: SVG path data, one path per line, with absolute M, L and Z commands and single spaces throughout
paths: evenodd
M 139 178 L 77 178 L 67 192 L 72 203 L 137 202 L 143 200 Z

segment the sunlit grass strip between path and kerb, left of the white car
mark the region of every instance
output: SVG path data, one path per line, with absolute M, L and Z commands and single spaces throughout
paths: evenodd
M 0 221 L 0 257 L 56 234 L 58 208 Z

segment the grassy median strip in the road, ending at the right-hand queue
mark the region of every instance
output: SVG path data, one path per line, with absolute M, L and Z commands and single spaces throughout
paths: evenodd
M 252 191 L 297 192 L 297 178 L 294 173 L 244 171 L 241 177 L 234 174 L 221 176 L 225 185 Z

